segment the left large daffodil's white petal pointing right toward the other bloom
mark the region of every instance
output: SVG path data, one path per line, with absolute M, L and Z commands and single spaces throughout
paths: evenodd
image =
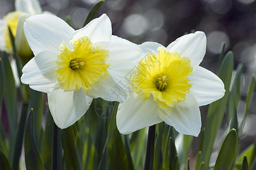
M 139 45 L 117 36 L 111 37 L 111 41 L 107 49 L 110 50 L 110 58 L 108 58 L 110 63 L 116 62 L 120 59 L 131 62 L 137 62 L 140 59 Z

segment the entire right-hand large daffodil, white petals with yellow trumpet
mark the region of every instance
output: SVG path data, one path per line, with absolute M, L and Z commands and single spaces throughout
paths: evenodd
M 120 133 L 164 121 L 182 134 L 198 136 L 199 106 L 224 96 L 224 84 L 211 71 L 199 66 L 205 54 L 203 32 L 190 33 L 165 48 L 157 42 L 140 45 L 142 57 L 131 76 L 133 95 L 119 105 Z

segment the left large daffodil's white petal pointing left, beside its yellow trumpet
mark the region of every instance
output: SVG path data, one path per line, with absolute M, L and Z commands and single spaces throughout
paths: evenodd
M 22 69 L 22 83 L 30 84 L 33 90 L 51 92 L 57 88 L 57 76 L 54 74 L 57 54 L 44 51 L 33 57 Z

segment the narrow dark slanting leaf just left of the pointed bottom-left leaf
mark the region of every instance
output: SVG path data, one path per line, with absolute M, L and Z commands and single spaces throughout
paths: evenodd
M 28 104 L 23 103 L 22 114 L 20 116 L 20 121 L 19 121 L 19 129 L 18 129 L 18 133 L 16 135 L 14 157 L 12 160 L 12 168 L 13 169 L 18 169 L 18 166 L 19 166 L 19 158 L 20 158 L 20 155 L 22 154 L 22 142 L 21 141 L 23 141 L 23 137 L 24 137 L 24 129 L 25 129 L 26 120 L 27 120 L 27 113 L 28 113 Z

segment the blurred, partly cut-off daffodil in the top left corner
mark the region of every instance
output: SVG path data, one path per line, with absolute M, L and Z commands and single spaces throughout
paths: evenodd
M 50 13 L 44 11 L 43 13 Z M 20 57 L 31 59 L 32 51 L 23 33 L 25 19 L 31 15 L 42 14 L 40 3 L 37 0 L 16 0 L 15 11 L 9 12 L 3 19 L 0 19 L 0 50 L 12 54 L 12 44 L 9 34 L 11 29 L 15 37 L 16 50 Z

